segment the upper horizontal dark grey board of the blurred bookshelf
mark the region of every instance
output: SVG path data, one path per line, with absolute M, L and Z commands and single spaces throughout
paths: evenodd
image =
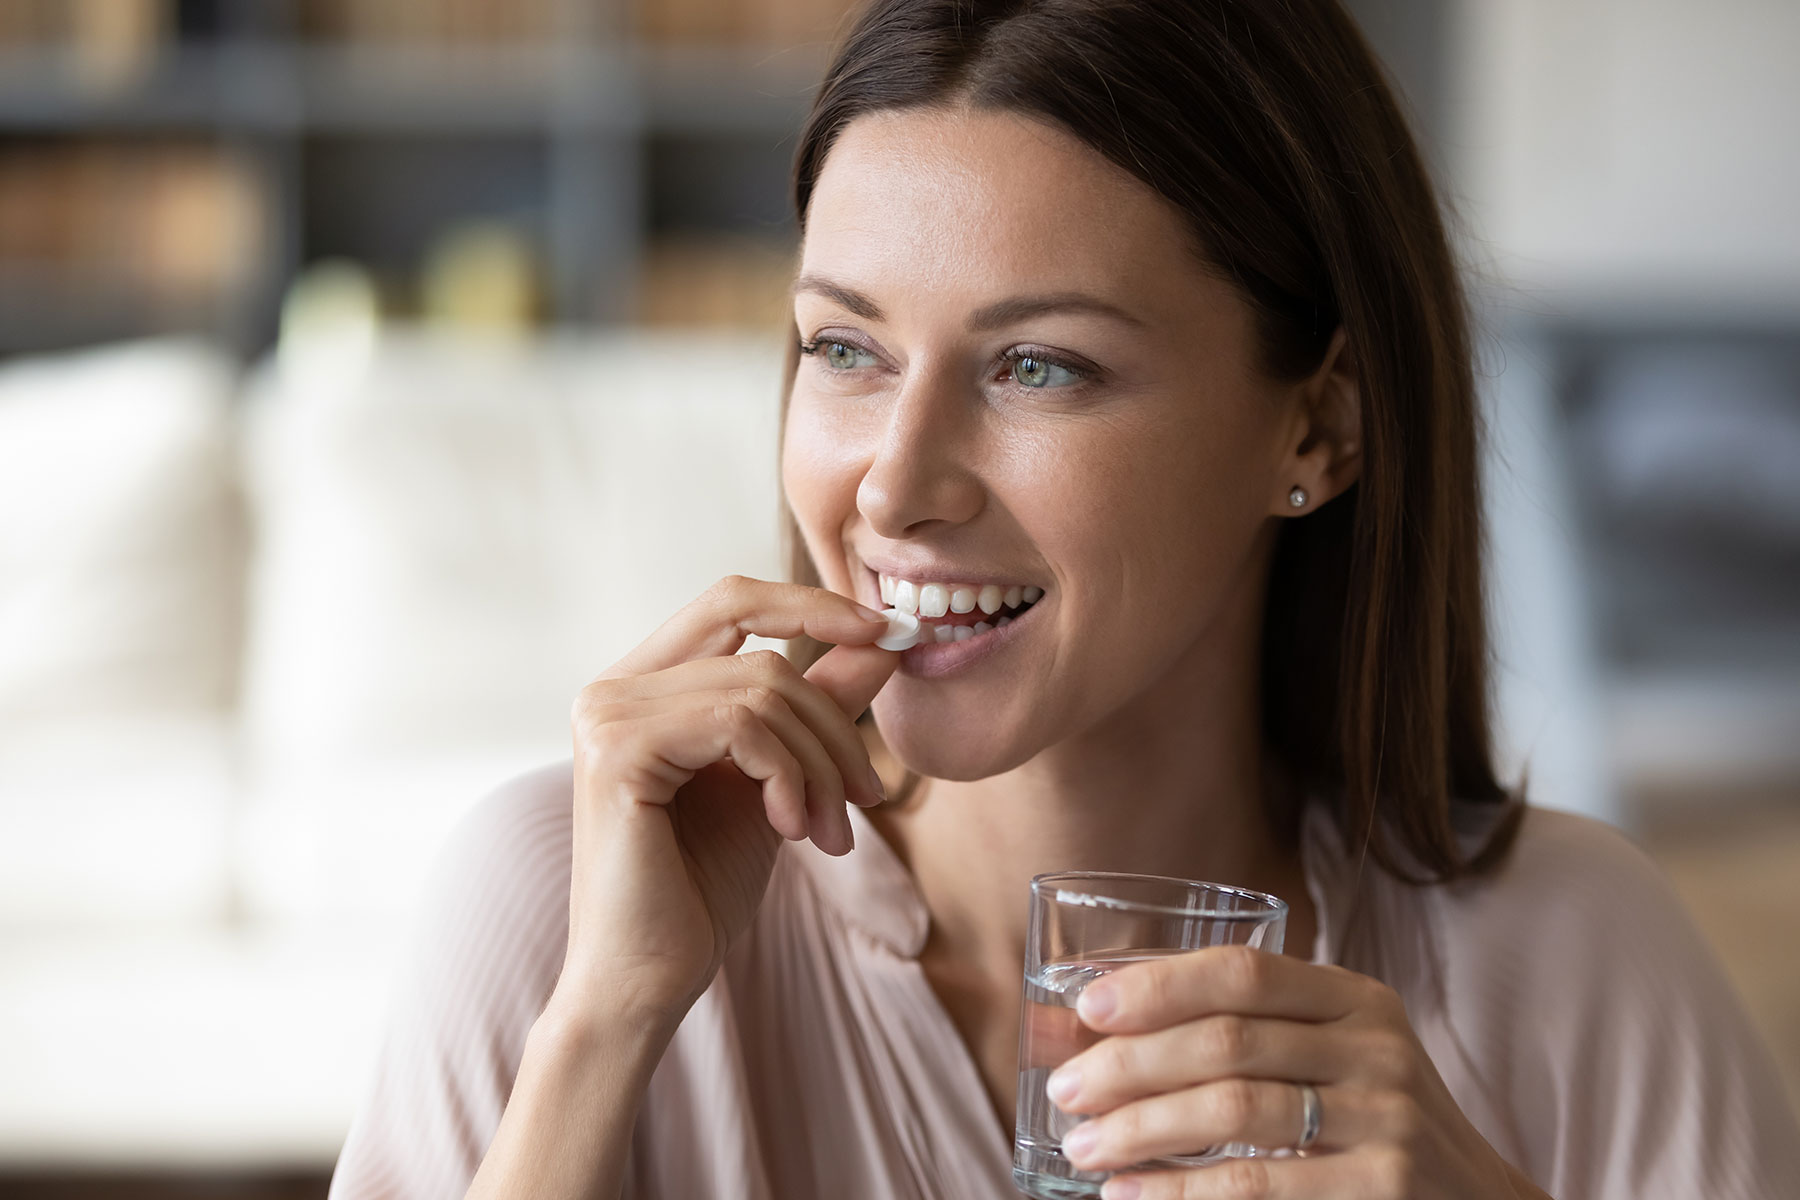
M 0 52 L 0 133 L 788 135 L 823 70 L 812 49 L 185 45 L 130 86 L 61 56 Z

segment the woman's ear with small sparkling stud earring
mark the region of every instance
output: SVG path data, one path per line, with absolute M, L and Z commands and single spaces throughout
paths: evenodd
M 1343 326 L 1332 335 L 1319 369 L 1296 385 L 1291 414 L 1271 500 L 1278 516 L 1312 513 L 1354 484 L 1363 470 L 1361 372 Z M 1294 488 L 1305 493 L 1301 504 L 1294 504 Z

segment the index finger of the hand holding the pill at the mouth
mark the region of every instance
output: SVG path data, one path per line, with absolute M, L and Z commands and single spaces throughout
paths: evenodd
M 774 583 L 751 576 L 725 576 L 599 678 L 648 675 L 693 658 L 722 658 L 751 637 L 815 637 L 837 646 L 862 646 L 887 631 L 887 619 L 848 596 L 805 583 Z

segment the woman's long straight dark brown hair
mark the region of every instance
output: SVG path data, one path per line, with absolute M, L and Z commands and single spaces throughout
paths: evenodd
M 799 227 L 855 117 L 956 104 L 1053 121 L 1174 203 L 1201 263 L 1253 308 L 1273 378 L 1310 376 L 1345 327 L 1363 470 L 1283 522 L 1265 738 L 1390 873 L 1426 883 L 1498 864 L 1523 802 L 1489 747 L 1471 313 L 1418 148 L 1355 23 L 1337 0 L 873 0 L 799 135 Z M 790 349 L 787 392 L 796 365 Z M 785 502 L 781 515 L 790 578 L 819 585 Z M 823 648 L 792 649 L 810 664 Z M 1492 808 L 1472 855 L 1453 795 Z M 1291 828 L 1296 813 L 1276 817 Z

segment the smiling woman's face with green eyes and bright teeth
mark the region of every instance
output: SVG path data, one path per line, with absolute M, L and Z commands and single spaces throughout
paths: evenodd
M 1305 405 L 1190 245 L 1152 189 L 1015 113 L 864 115 L 826 157 L 783 439 L 824 585 L 877 608 L 880 574 L 1042 588 L 905 653 L 875 718 L 914 770 L 1010 770 L 1255 637 L 1273 516 L 1310 484 Z

